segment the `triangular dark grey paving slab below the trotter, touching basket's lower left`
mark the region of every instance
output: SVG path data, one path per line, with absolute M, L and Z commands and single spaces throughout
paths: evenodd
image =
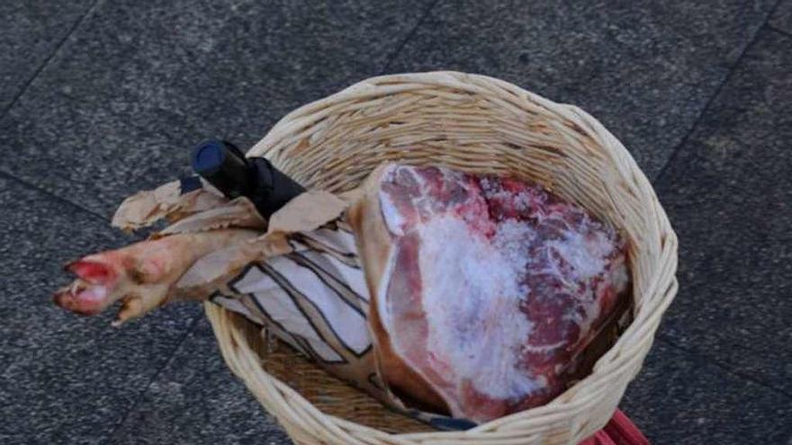
M 292 442 L 226 367 L 211 325 L 202 318 L 112 443 Z

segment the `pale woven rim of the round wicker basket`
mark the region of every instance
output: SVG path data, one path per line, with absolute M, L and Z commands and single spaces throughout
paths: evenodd
M 329 112 L 332 112 L 333 107 L 339 103 L 438 87 L 453 88 L 470 93 L 491 93 L 493 89 L 500 90 L 507 101 L 509 98 L 512 98 L 516 103 L 519 101 L 517 105 L 520 107 L 524 107 L 526 102 L 530 102 L 548 114 L 554 114 L 570 120 L 574 125 L 585 131 L 587 135 L 594 138 L 597 144 L 608 147 L 605 151 L 606 155 L 611 157 L 609 161 L 625 166 L 625 171 L 620 173 L 626 181 L 633 185 L 632 189 L 635 189 L 635 192 L 640 194 L 642 203 L 647 204 L 645 211 L 651 212 L 653 217 L 651 218 L 654 228 L 653 236 L 660 236 L 659 244 L 662 246 L 662 250 L 658 253 L 658 256 L 659 264 L 662 267 L 653 271 L 643 293 L 657 294 L 661 295 L 661 297 L 653 298 L 646 305 L 642 304 L 635 307 L 633 322 L 619 336 L 617 342 L 611 346 L 608 352 L 597 360 L 590 375 L 578 381 L 561 396 L 555 397 L 550 403 L 519 413 L 509 414 L 488 423 L 482 423 L 466 432 L 418 433 L 383 432 L 331 414 L 322 413 L 319 408 L 311 405 L 299 392 L 292 387 L 288 387 L 284 382 L 266 373 L 264 369 L 255 364 L 255 358 L 258 357 L 257 353 L 247 344 L 244 335 L 234 332 L 236 328 L 228 322 L 229 314 L 226 313 L 225 309 L 216 305 L 205 304 L 207 317 L 211 321 L 213 331 L 220 344 L 220 350 L 229 368 L 245 382 L 262 405 L 265 405 L 267 411 L 274 414 L 284 424 L 290 435 L 294 425 L 290 425 L 290 421 L 274 412 L 274 409 L 277 410 L 277 406 L 264 400 L 265 396 L 262 396 L 257 391 L 260 389 L 259 385 L 265 385 L 271 390 L 276 390 L 283 396 L 280 399 L 282 402 L 297 404 L 306 410 L 307 413 L 311 413 L 311 417 L 316 416 L 316 419 L 326 421 L 321 423 L 331 423 L 332 426 L 330 424 L 325 424 L 324 426 L 334 433 L 338 433 L 340 437 L 344 437 L 344 443 L 358 443 L 358 441 L 353 440 L 353 437 L 349 436 L 348 433 L 341 433 L 341 430 L 365 433 L 367 437 L 375 439 L 375 443 L 428 443 L 427 441 L 436 440 L 464 439 L 469 441 L 473 438 L 524 437 L 524 434 L 536 430 L 537 424 L 558 422 L 560 418 L 563 419 L 568 416 L 570 411 L 576 412 L 590 409 L 592 401 L 602 397 L 599 393 L 608 389 L 608 377 L 615 373 L 625 373 L 630 369 L 628 364 L 634 365 L 635 360 L 638 361 L 637 367 L 640 368 L 649 348 L 652 346 L 654 333 L 660 325 L 662 314 L 676 295 L 678 289 L 678 282 L 675 276 L 678 263 L 678 238 L 671 227 L 665 210 L 662 209 L 657 199 L 651 183 L 636 164 L 633 156 L 626 150 L 626 147 L 599 120 L 596 120 L 577 106 L 553 102 L 539 94 L 528 92 L 517 85 L 495 77 L 457 71 L 430 71 L 370 77 L 348 86 L 338 93 L 330 94 L 318 101 L 307 103 L 289 112 L 281 120 L 278 120 L 275 126 L 267 132 L 266 136 L 248 151 L 247 156 L 277 157 L 280 152 L 280 147 L 277 146 L 284 138 L 287 138 L 297 129 L 311 127 L 313 123 L 323 119 Z M 660 289 L 661 287 L 662 289 Z M 640 347 L 640 353 L 629 357 L 618 356 L 617 352 L 621 351 L 627 343 L 633 343 Z M 256 367 L 258 369 L 255 369 Z M 637 370 L 630 375 L 623 376 L 626 379 L 625 387 L 630 380 L 635 378 L 636 374 Z M 622 388 L 622 392 L 623 390 Z M 594 396 L 578 396 L 587 391 L 594 394 Z M 614 405 L 614 409 L 615 407 L 616 405 Z M 599 425 L 592 430 L 591 425 L 579 425 L 581 431 L 591 432 L 596 431 L 601 426 Z

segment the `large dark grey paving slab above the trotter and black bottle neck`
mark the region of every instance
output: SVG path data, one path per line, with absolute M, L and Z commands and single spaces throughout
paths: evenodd
M 5 172 L 109 214 L 219 136 L 382 70 L 425 0 L 99 4 L 0 122 Z

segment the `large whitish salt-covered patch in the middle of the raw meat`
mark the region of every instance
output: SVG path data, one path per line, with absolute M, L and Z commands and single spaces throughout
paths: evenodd
M 487 396 L 513 398 L 536 390 L 539 384 L 520 369 L 520 346 L 532 329 L 519 311 L 526 295 L 519 282 L 525 258 L 514 261 L 517 252 L 500 251 L 498 243 L 487 243 L 457 218 L 432 219 L 418 231 L 428 352 L 453 369 L 458 383 L 467 380 Z M 495 238 L 511 235 L 522 234 Z M 503 245 L 511 242 L 518 239 Z

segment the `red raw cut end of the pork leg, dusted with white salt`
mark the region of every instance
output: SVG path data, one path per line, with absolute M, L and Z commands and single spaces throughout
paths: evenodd
M 349 218 L 383 378 L 475 422 L 560 394 L 627 287 L 614 229 L 536 184 L 386 165 Z

